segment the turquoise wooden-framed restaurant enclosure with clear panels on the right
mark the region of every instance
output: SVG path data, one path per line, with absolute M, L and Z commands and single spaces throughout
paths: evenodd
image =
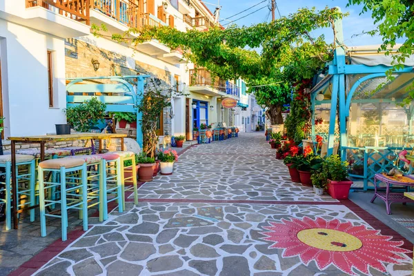
M 319 75 L 311 90 L 312 138 L 318 134 L 315 131 L 315 113 L 318 108 L 325 108 L 329 112 L 328 155 L 333 154 L 334 144 L 339 142 L 342 159 L 361 168 L 360 173 L 351 173 L 351 177 L 363 180 L 366 190 L 376 172 L 390 170 L 398 153 L 411 149 L 414 106 L 402 107 L 400 103 L 411 92 L 408 88 L 414 81 L 414 56 L 393 72 L 393 81 L 388 81 L 386 72 L 393 68 L 392 57 L 379 52 L 380 46 L 346 48 L 341 20 L 335 21 L 335 45 L 328 75 Z M 398 55 L 398 48 L 391 49 L 392 55 Z M 317 101 L 318 94 L 323 94 L 324 100 Z M 391 112 L 407 126 L 401 125 L 400 130 L 393 130 L 389 119 L 383 121 L 384 112 Z M 375 115 L 377 126 L 362 127 L 360 122 L 368 114 Z

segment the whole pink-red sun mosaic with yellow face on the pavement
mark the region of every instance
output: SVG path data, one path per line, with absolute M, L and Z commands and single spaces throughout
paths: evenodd
M 262 233 L 264 240 L 275 242 L 270 248 L 283 248 L 283 257 L 299 256 L 304 264 L 315 261 L 321 270 L 333 264 L 349 275 L 368 275 L 370 267 L 386 273 L 384 264 L 402 264 L 406 257 L 400 254 L 410 252 L 379 230 L 339 219 L 282 219 L 264 228 L 269 230 Z

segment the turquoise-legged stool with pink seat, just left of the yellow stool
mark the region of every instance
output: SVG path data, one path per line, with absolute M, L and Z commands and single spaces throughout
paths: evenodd
M 118 202 L 119 213 L 124 212 L 124 201 L 122 196 L 121 183 L 121 157 L 116 153 L 107 152 L 98 154 L 103 158 L 103 170 L 105 173 L 101 174 L 102 183 L 106 184 L 103 191 L 103 219 L 108 219 L 108 203 L 111 201 Z M 75 158 L 74 158 L 75 159 Z M 108 195 L 112 196 L 108 199 Z

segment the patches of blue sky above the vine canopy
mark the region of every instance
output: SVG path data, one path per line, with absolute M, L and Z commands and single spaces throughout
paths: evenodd
M 242 10 L 246 10 L 247 8 L 250 8 L 251 6 L 254 6 L 264 0 L 206 0 L 204 3 L 208 6 L 208 8 L 210 8 L 210 10 L 214 11 L 217 6 L 217 1 L 219 1 L 219 6 L 222 7 L 220 11 L 220 19 L 222 21 L 220 23 L 226 24 L 230 23 L 230 20 L 239 19 L 239 17 L 244 17 L 259 8 L 269 6 L 268 1 L 270 0 L 265 1 L 264 3 L 261 3 L 258 6 L 255 6 L 254 8 L 251 8 L 250 10 L 236 15 L 228 20 L 223 19 L 231 17 L 232 15 L 237 14 Z M 373 30 L 374 28 L 371 13 L 359 15 L 359 12 L 362 10 L 362 6 L 350 6 L 346 8 L 348 0 L 276 0 L 276 3 L 282 16 L 287 16 L 290 13 L 296 12 L 298 8 L 316 7 L 317 10 L 322 10 L 326 6 L 329 8 L 338 6 L 341 8 L 342 12 L 349 12 L 348 17 L 344 18 L 342 22 L 344 28 L 344 43 L 346 46 L 377 45 L 382 43 L 382 39 L 380 37 L 371 37 L 370 35 L 362 34 L 362 32 Z M 277 10 L 275 12 L 275 17 L 279 18 Z M 243 19 L 237 20 L 234 23 L 239 26 L 250 26 L 255 23 L 262 23 L 266 19 L 267 21 L 271 21 L 270 10 L 268 8 L 263 8 L 262 10 L 259 10 Z M 328 43 L 333 42 L 332 29 L 326 28 L 313 32 L 314 36 L 318 36 L 320 34 L 325 34 L 325 39 Z M 362 35 L 355 36 L 355 34 Z

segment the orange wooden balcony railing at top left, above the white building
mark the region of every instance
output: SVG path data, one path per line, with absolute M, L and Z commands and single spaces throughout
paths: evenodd
M 89 25 L 89 3 L 90 0 L 26 0 L 26 8 L 43 7 Z

